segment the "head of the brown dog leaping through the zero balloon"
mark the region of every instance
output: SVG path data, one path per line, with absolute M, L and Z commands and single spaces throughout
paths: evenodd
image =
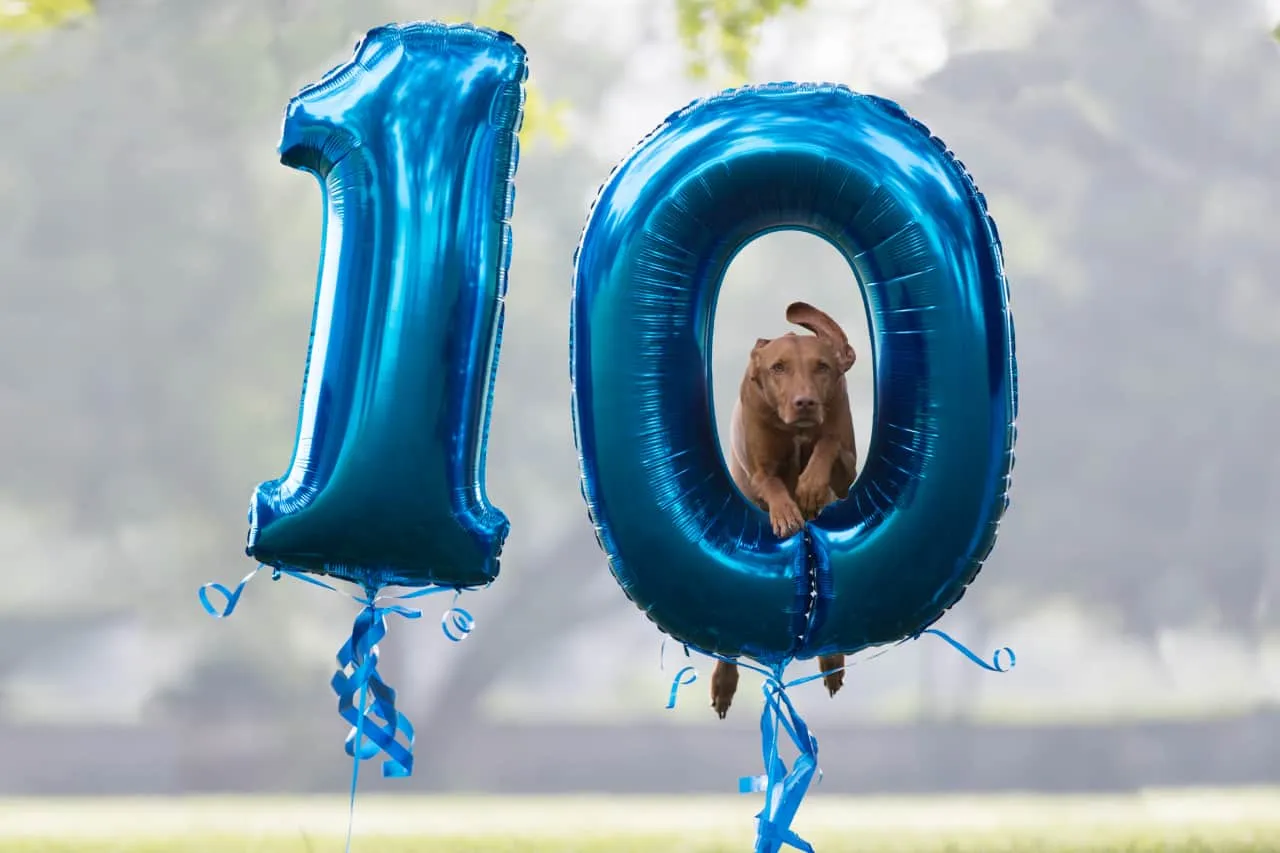
M 819 426 L 856 356 L 840 324 L 808 302 L 787 306 L 787 321 L 813 332 L 760 338 L 751 350 L 750 380 L 787 426 Z

